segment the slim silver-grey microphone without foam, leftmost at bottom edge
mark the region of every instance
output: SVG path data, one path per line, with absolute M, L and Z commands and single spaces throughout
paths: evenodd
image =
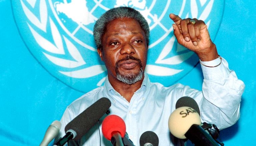
M 61 123 L 58 120 L 53 121 L 47 128 L 40 146 L 47 146 L 59 134 L 60 127 Z

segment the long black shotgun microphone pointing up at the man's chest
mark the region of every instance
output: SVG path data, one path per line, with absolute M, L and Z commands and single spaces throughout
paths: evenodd
M 81 139 L 108 111 L 110 106 L 111 102 L 106 97 L 97 100 L 66 125 L 66 135 L 59 139 L 54 145 L 62 146 L 71 139 Z

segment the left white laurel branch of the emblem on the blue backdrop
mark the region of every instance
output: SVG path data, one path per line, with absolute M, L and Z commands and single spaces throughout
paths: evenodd
M 39 0 L 39 13 L 40 18 L 38 19 L 34 13 L 24 4 L 23 0 L 20 0 L 22 8 L 24 10 L 25 15 L 27 16 L 28 20 L 36 26 L 38 29 L 42 30 L 45 33 L 51 33 L 51 36 L 53 38 L 53 42 L 50 42 L 46 38 L 44 38 L 41 34 L 39 34 L 29 23 L 27 22 L 27 25 L 35 38 L 38 45 L 43 49 L 42 53 L 46 56 L 47 59 L 49 59 L 53 64 L 58 65 L 60 67 L 64 68 L 76 68 L 80 67 L 86 62 L 84 61 L 83 57 L 81 56 L 80 52 L 76 48 L 76 46 L 64 35 L 61 35 L 57 26 L 53 22 L 50 16 L 48 16 L 47 11 L 47 5 L 45 0 Z M 33 8 L 36 4 L 36 1 L 33 1 L 33 4 L 31 4 L 31 1 L 27 1 Z M 47 20 L 49 20 L 50 25 L 50 32 L 46 31 L 47 27 Z M 65 45 L 67 46 L 67 52 L 64 51 L 63 48 L 63 40 L 65 42 Z M 70 55 L 74 60 L 68 60 L 59 58 L 56 56 L 50 55 L 51 54 L 61 54 L 63 56 Z M 73 77 L 73 78 L 89 78 L 98 74 L 101 74 L 106 71 L 106 68 L 104 65 L 94 65 L 87 68 L 65 72 L 65 71 L 59 71 L 63 75 Z M 102 84 L 102 79 L 99 81 L 99 84 Z

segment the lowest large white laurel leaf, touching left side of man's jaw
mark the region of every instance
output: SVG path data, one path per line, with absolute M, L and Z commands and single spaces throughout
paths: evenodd
M 71 71 L 71 72 L 59 71 L 59 72 L 72 78 L 89 78 L 89 77 L 93 77 L 98 74 L 101 74 L 106 70 L 107 69 L 105 65 L 94 65 L 94 66 L 90 66 L 88 68 L 84 68 L 77 71 Z

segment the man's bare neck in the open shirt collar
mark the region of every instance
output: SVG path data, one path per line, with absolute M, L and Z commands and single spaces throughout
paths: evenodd
M 141 84 L 144 79 L 144 75 L 142 79 L 134 84 L 126 84 L 123 83 L 112 76 L 108 77 L 110 84 L 112 87 L 121 95 L 123 96 L 128 102 L 131 101 L 133 94 L 141 87 Z

